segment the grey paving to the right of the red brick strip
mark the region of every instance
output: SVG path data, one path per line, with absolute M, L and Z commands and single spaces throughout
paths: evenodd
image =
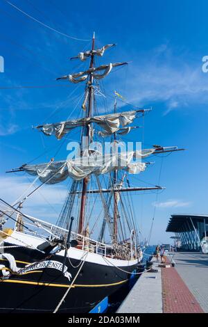
M 177 252 L 175 269 L 196 298 L 204 312 L 208 312 L 208 255 L 200 252 Z

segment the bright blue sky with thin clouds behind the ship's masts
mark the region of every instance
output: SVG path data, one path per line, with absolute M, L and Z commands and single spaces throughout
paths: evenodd
M 154 159 L 153 166 L 131 179 L 138 186 L 143 183 L 141 180 L 158 184 L 162 165 L 160 185 L 166 190 L 158 195 L 157 202 L 155 193 L 134 196 L 144 236 L 148 236 L 154 211 L 154 244 L 168 241 L 170 235 L 165 229 L 171 214 L 207 214 L 208 74 L 202 72 L 202 56 L 208 55 L 207 1 L 137 0 L 129 1 L 128 6 L 125 1 L 10 3 L 76 38 L 89 40 L 96 31 L 97 47 L 115 42 L 116 47 L 106 51 L 99 63 L 130 64 L 105 79 L 107 93 L 116 89 L 132 104 L 153 106 L 153 111 L 146 115 L 144 131 L 134 131 L 132 138 L 141 141 L 144 132 L 146 146 L 178 145 L 187 149 Z M 81 66 L 68 58 L 89 49 L 90 41 L 55 33 L 7 1 L 1 0 L 0 15 L 0 55 L 5 60 L 5 72 L 0 74 L 0 191 L 1 198 L 12 202 L 26 189 L 28 180 L 24 175 L 8 175 L 5 171 L 53 147 L 36 162 L 48 161 L 59 146 L 31 126 L 64 120 L 71 113 L 73 118 L 81 114 L 79 106 L 74 108 L 83 86 L 62 83 L 57 87 L 59 82 L 55 78 L 85 68 L 87 64 Z M 12 86 L 51 87 L 3 89 Z M 112 100 L 107 101 L 110 112 Z M 63 146 L 56 159 L 62 159 L 66 153 Z M 28 201 L 26 212 L 54 221 L 65 192 L 65 184 L 55 190 L 46 186 L 42 191 L 44 198 L 35 195 Z

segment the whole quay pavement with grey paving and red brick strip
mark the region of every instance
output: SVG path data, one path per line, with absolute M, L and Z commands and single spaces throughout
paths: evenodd
M 166 255 L 167 262 L 171 256 Z M 208 312 L 208 255 L 200 252 L 174 253 L 175 266 L 144 272 L 121 303 L 118 313 Z

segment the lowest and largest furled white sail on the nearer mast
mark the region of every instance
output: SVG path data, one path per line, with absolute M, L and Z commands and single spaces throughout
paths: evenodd
M 37 165 L 24 165 L 21 170 L 26 173 L 38 176 L 40 181 L 46 184 L 56 184 L 67 179 L 83 180 L 83 178 L 93 174 L 103 175 L 110 171 L 127 170 L 128 173 L 138 174 L 144 171 L 146 163 L 141 161 L 132 161 L 135 152 L 126 152 L 118 154 L 102 154 L 92 152 L 78 159 L 67 159 L 66 161 L 56 161 L 49 163 L 40 163 Z

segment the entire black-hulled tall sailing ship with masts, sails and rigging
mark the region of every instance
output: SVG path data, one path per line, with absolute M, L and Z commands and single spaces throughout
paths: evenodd
M 137 274 L 142 251 L 130 192 L 162 188 L 132 187 L 128 174 L 143 172 L 149 164 L 144 160 L 153 154 L 180 149 L 153 145 L 126 153 L 118 150 L 123 135 L 138 127 L 132 122 L 150 109 L 119 112 L 120 95 L 115 93 L 112 113 L 99 114 L 96 97 L 105 97 L 101 79 L 114 67 L 127 65 L 96 67 L 96 59 L 112 47 L 96 49 L 93 36 L 92 49 L 72 58 L 89 60 L 89 69 L 58 78 L 85 84 L 83 116 L 37 126 L 58 140 L 78 129 L 76 156 L 10 170 L 33 175 L 31 187 L 35 189 L 12 204 L 1 199 L 0 312 L 89 312 Z M 111 141 L 112 152 L 104 155 L 99 145 L 106 140 Z M 57 223 L 24 214 L 24 202 L 40 187 L 55 187 L 67 179 L 69 191 Z

